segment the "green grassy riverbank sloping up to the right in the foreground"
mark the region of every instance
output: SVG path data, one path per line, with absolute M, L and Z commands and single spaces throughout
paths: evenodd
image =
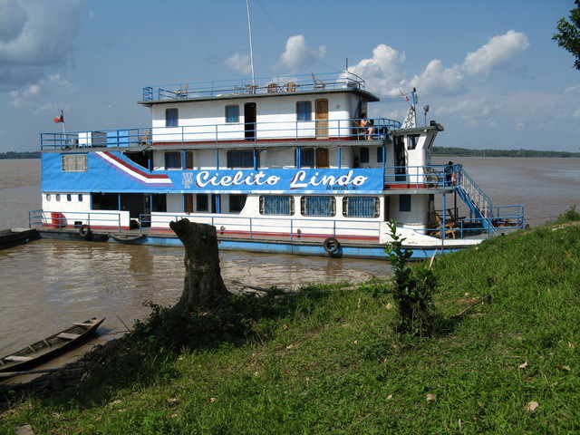
M 578 432 L 580 226 L 498 237 L 440 256 L 434 272 L 434 338 L 395 336 L 391 296 L 365 286 L 266 297 L 257 315 L 240 299 L 230 324 L 187 332 L 190 350 L 141 325 L 147 343 L 79 387 L 8 394 L 0 433 Z

